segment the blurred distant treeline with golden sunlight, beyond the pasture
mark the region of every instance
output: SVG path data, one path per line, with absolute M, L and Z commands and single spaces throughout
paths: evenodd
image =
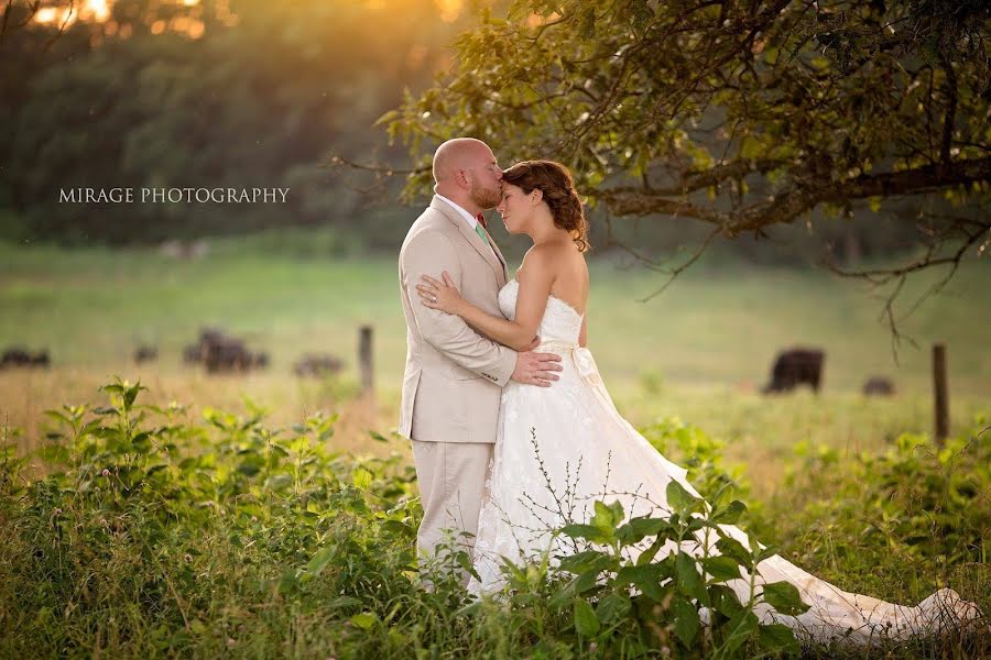
M 9 128 L 0 131 L 0 239 L 153 244 L 329 226 L 340 250 L 394 250 L 417 212 L 399 205 L 400 177 L 380 182 L 325 163 L 339 154 L 402 165 L 405 151 L 388 147 L 373 124 L 405 89 L 425 88 L 449 66 L 449 46 L 469 20 L 440 20 L 434 0 L 130 0 L 54 41 L 51 24 L 8 35 L 0 50 L 0 124 Z M 284 204 L 59 200 L 80 188 L 290 193 Z M 913 212 L 911 204 L 904 212 Z M 608 222 L 599 211 L 592 224 L 593 244 L 645 252 L 705 234 L 695 221 Z M 831 242 L 856 258 L 918 240 L 912 223 L 856 216 L 816 231 L 778 228 L 770 241 L 738 240 L 732 249 L 781 261 Z

